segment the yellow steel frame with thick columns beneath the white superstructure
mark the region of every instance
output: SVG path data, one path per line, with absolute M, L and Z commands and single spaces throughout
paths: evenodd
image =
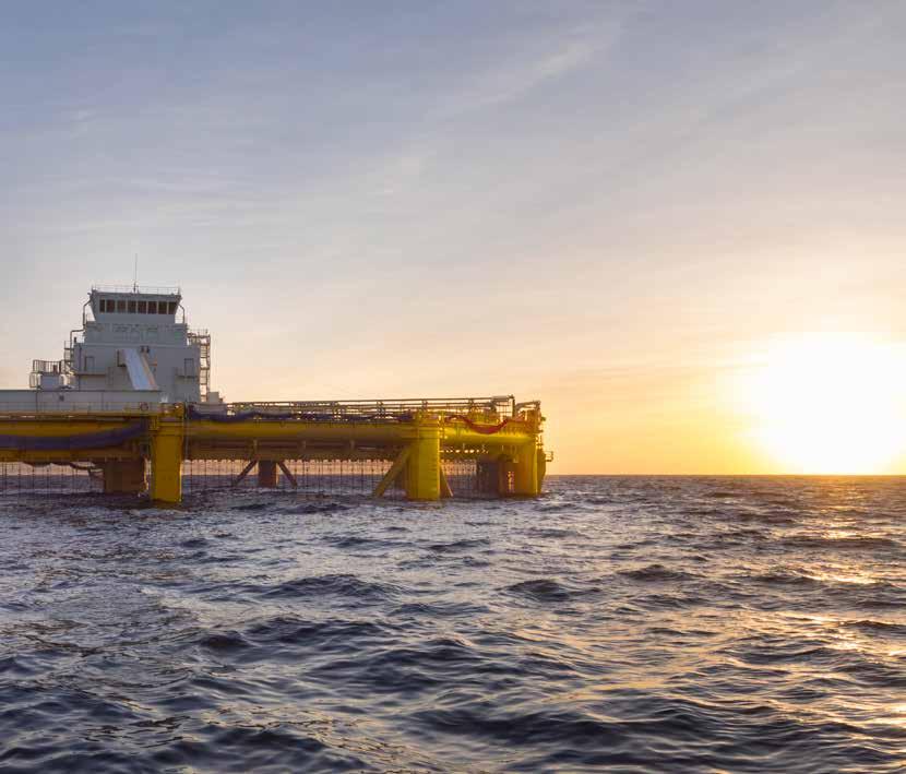
M 162 503 L 181 500 L 183 460 L 392 460 L 378 485 L 380 497 L 402 480 L 410 500 L 451 497 L 442 460 L 477 460 L 500 466 L 500 493 L 534 496 L 541 491 L 545 453 L 540 409 L 522 412 L 493 432 L 480 432 L 431 409 L 406 420 L 319 421 L 306 418 L 252 417 L 233 422 L 190 418 L 183 406 L 155 414 L 2 415 L 0 436 L 69 438 L 128 427 L 136 417 L 147 431 L 117 446 L 91 450 L 39 451 L 0 449 L 0 462 L 92 462 L 109 479 L 106 490 L 134 491 L 143 486 L 135 461 L 151 461 L 148 492 Z M 130 462 L 131 461 L 131 462 Z M 512 474 L 512 475 L 511 475 Z M 124 487 L 119 489 L 118 487 Z

